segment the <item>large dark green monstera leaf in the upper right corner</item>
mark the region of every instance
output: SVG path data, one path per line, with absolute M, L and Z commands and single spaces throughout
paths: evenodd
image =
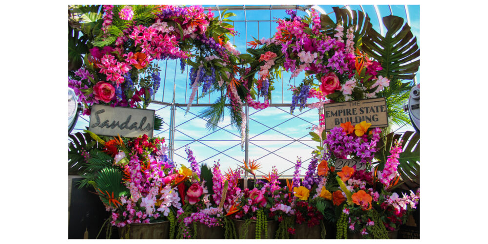
M 398 16 L 383 17 L 388 30 L 385 37 L 373 28 L 369 28 L 363 37 L 363 51 L 380 61 L 383 70 L 378 71 L 378 75 L 390 81 L 412 80 L 420 65 L 420 60 L 414 61 L 420 56 L 417 38 L 410 31 L 410 26 L 407 23 L 403 25 L 403 22 Z

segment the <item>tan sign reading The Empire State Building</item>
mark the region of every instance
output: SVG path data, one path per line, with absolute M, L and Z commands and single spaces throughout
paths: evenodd
M 371 123 L 370 128 L 388 126 L 385 98 L 326 103 L 324 116 L 326 131 L 348 121 L 353 126 L 363 121 Z

